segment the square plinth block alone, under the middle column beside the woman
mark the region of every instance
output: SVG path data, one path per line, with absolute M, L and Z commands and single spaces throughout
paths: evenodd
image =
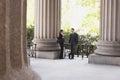
M 37 58 L 59 59 L 60 51 L 36 51 Z

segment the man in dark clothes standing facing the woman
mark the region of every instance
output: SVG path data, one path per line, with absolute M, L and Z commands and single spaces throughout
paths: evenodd
M 75 48 L 78 44 L 78 34 L 75 33 L 74 28 L 71 28 L 69 43 L 70 43 L 70 46 L 71 46 L 71 53 L 69 54 L 69 59 L 74 59 Z

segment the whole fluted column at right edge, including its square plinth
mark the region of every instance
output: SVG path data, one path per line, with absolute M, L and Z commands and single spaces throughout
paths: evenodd
M 120 65 L 120 0 L 101 0 L 100 40 L 89 63 Z

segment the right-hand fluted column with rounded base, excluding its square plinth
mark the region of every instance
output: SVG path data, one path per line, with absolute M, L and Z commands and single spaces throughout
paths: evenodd
M 120 56 L 120 0 L 101 0 L 101 39 L 97 54 Z

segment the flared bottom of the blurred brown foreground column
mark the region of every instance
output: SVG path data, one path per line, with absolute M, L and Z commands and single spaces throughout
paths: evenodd
M 31 68 L 24 68 L 21 70 L 10 69 L 4 76 L 0 76 L 0 80 L 41 80 L 41 78 Z

